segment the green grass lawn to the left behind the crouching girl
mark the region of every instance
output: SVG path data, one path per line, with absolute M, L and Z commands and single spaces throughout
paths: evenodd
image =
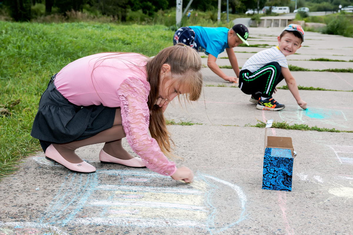
M 162 25 L 100 23 L 0 21 L 0 29 L 0 177 L 12 172 L 23 156 L 40 149 L 30 131 L 40 96 L 53 74 L 98 52 L 156 55 L 173 45 L 174 33 Z

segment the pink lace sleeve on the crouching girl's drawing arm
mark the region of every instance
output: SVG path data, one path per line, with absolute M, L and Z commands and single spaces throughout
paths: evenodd
M 149 85 L 147 85 L 149 86 Z M 117 94 L 120 100 L 122 126 L 132 150 L 146 167 L 162 175 L 172 175 L 177 168 L 168 161 L 157 141 L 148 133 L 150 113 L 147 105 L 148 90 L 137 78 L 125 79 Z

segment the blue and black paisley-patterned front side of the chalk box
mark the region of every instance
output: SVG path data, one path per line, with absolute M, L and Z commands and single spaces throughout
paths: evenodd
M 286 148 L 266 148 L 262 189 L 292 191 L 292 152 Z

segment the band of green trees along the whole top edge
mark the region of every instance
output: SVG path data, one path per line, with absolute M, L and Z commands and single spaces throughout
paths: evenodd
M 313 10 L 330 11 L 342 6 L 352 5 L 352 0 L 297 0 L 297 7 L 309 6 Z M 189 0 L 183 1 L 183 6 Z M 291 0 L 228 0 L 229 12 L 244 13 L 247 9 L 261 10 L 263 6 L 289 6 L 293 8 Z M 45 15 L 59 13 L 65 16 L 68 11 L 95 12 L 103 16 L 112 16 L 119 21 L 126 21 L 129 11 L 142 11 L 153 17 L 159 10 L 167 10 L 176 6 L 176 0 L 0 0 L 0 9 L 8 12 L 15 21 L 29 21 L 34 14 L 31 10 L 35 6 L 43 6 Z M 45 8 L 45 10 L 44 10 Z M 190 9 L 196 11 L 216 11 L 218 0 L 193 0 Z M 221 0 L 221 11 L 226 11 L 227 0 Z M 293 10 L 293 9 L 292 9 Z

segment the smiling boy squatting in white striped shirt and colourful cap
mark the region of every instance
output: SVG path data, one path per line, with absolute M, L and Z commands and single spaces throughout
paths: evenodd
M 300 98 L 297 82 L 289 71 L 286 56 L 294 54 L 304 42 L 304 30 L 300 25 L 290 24 L 277 37 L 278 46 L 257 52 L 251 56 L 239 73 L 239 88 L 251 95 L 250 102 L 260 110 L 277 111 L 285 108 L 272 98 L 276 85 L 285 79 L 298 105 L 306 109 Z

